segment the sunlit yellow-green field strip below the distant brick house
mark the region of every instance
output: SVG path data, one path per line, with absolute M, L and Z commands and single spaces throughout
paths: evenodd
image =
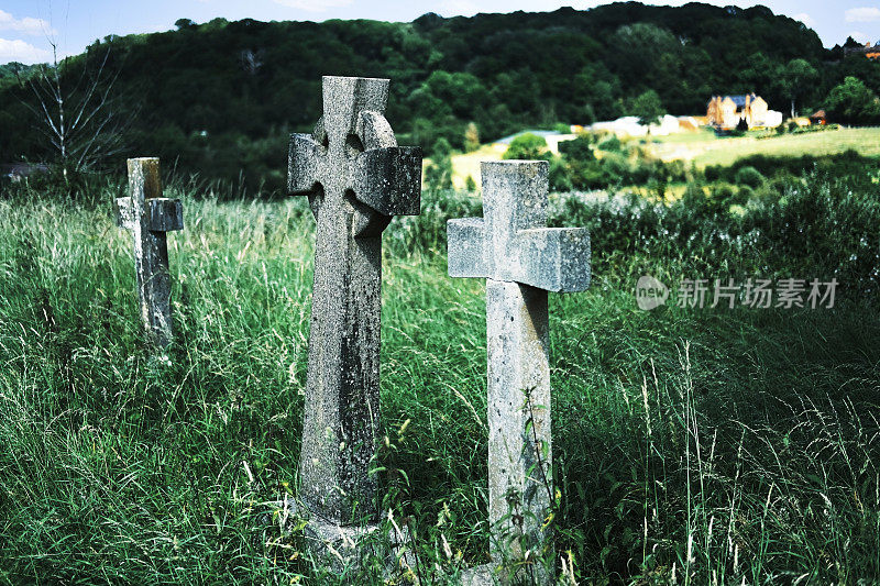
M 701 132 L 670 136 L 654 145 L 654 152 L 661 158 L 693 161 L 698 167 L 732 165 L 739 158 L 752 155 L 831 155 L 849 148 L 861 155 L 880 156 L 880 128 L 784 134 L 768 139 L 718 139 L 712 133 Z

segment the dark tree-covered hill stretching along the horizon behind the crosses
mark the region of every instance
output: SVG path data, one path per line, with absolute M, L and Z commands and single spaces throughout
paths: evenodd
M 873 64 L 843 59 L 802 23 L 762 7 L 627 2 L 411 23 L 182 19 L 177 29 L 96 42 L 64 68 L 66 87 L 109 55 L 100 80 L 114 79 L 110 108 L 129 119 L 119 157 L 155 154 L 205 176 L 241 170 L 273 186 L 287 134 L 320 115 L 328 74 L 391 78 L 389 121 L 404 142 L 428 151 L 441 136 L 461 146 L 471 122 L 485 142 L 525 126 L 614 118 L 649 89 L 676 114 L 704 112 L 719 92 L 757 91 L 785 110 L 778 79 L 795 58 L 822 73 L 806 104 L 854 73 L 880 89 Z M 21 103 L 33 92 L 10 70 L 0 69 L 0 163 L 45 159 L 40 122 Z

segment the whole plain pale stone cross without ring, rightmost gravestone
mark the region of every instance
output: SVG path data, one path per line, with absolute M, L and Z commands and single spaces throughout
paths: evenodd
M 484 162 L 484 218 L 448 224 L 450 276 L 486 279 L 493 566 L 472 573 L 473 584 L 552 582 L 547 292 L 588 287 L 590 234 L 546 228 L 548 168 Z

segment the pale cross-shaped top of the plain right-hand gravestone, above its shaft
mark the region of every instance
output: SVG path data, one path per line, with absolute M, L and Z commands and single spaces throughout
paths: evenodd
M 590 287 L 590 232 L 543 228 L 546 162 L 483 163 L 484 218 L 450 220 L 449 275 L 557 292 Z

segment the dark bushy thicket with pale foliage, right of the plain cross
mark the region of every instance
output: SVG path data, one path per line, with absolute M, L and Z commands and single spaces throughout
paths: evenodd
M 612 197 L 593 202 L 568 197 L 552 225 L 584 225 L 593 247 L 617 258 L 658 251 L 679 258 L 683 273 L 763 278 L 837 278 L 853 298 L 880 288 L 880 201 L 876 186 L 814 173 L 779 177 L 758 189 L 697 183 L 669 204 Z M 596 258 L 596 274 L 619 274 L 614 259 Z M 608 263 L 608 264 L 606 264 Z M 638 268 L 640 270 L 640 268 Z M 846 284 L 845 290 L 843 284 Z

